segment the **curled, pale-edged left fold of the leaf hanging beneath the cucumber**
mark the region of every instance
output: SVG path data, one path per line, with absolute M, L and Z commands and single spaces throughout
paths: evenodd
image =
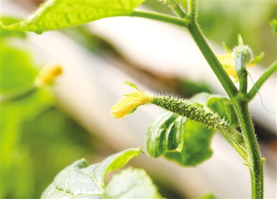
M 152 158 L 158 158 L 166 151 L 181 151 L 184 145 L 184 124 L 186 117 L 166 112 L 150 125 L 147 133 L 147 151 Z

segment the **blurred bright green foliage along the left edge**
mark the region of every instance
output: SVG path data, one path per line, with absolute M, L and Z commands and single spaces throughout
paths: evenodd
M 94 139 L 53 108 L 51 88 L 33 86 L 38 70 L 34 56 L 14 39 L 26 34 L 1 33 L 0 198 L 39 198 L 58 171 L 93 154 Z M 28 39 L 24 42 L 28 46 Z

